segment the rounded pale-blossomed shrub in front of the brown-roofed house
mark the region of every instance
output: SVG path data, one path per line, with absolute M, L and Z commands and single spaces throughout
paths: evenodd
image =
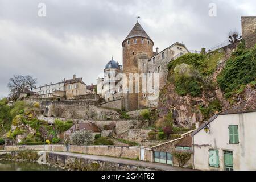
M 80 130 L 70 136 L 70 143 L 76 145 L 91 144 L 93 135 L 90 131 Z

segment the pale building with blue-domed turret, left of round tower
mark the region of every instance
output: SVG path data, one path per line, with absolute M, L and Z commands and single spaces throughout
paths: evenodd
M 116 89 L 118 82 L 117 77 L 119 73 L 122 73 L 122 66 L 115 60 L 110 60 L 104 69 L 104 78 L 97 79 L 97 93 L 100 94 L 105 101 L 114 100 L 122 92 L 122 85 Z

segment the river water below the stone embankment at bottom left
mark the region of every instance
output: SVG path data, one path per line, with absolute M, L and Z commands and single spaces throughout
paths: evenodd
M 13 162 L 10 160 L 0 160 L 0 171 L 61 171 L 48 165 L 40 165 L 37 162 Z

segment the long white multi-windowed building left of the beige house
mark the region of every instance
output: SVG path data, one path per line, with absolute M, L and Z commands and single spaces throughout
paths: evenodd
M 35 88 L 35 93 L 39 95 L 39 98 L 51 98 L 55 91 L 65 91 L 64 81 Z

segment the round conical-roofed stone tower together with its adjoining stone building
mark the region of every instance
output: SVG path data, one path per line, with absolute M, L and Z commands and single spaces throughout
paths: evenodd
M 158 102 L 158 96 L 154 96 L 154 98 L 151 99 L 150 95 L 142 92 L 141 79 L 138 81 L 135 78 L 129 78 L 130 73 L 138 73 L 139 75 L 141 75 L 141 73 L 159 73 L 159 87 L 153 84 L 155 89 L 159 91 L 166 83 L 168 74 L 167 64 L 173 60 L 175 56 L 189 52 L 185 45 L 181 43 L 172 44 L 160 53 L 158 52 L 158 48 L 156 48 L 156 52 L 154 52 L 153 46 L 153 40 L 138 22 L 122 42 L 123 73 L 125 73 L 128 78 L 127 82 L 129 82 L 129 79 L 133 79 L 131 80 L 131 82 L 133 82 L 132 93 L 123 88 L 125 109 L 128 111 L 143 109 L 149 106 L 156 107 Z M 135 84 L 139 85 L 139 93 L 134 93 Z

